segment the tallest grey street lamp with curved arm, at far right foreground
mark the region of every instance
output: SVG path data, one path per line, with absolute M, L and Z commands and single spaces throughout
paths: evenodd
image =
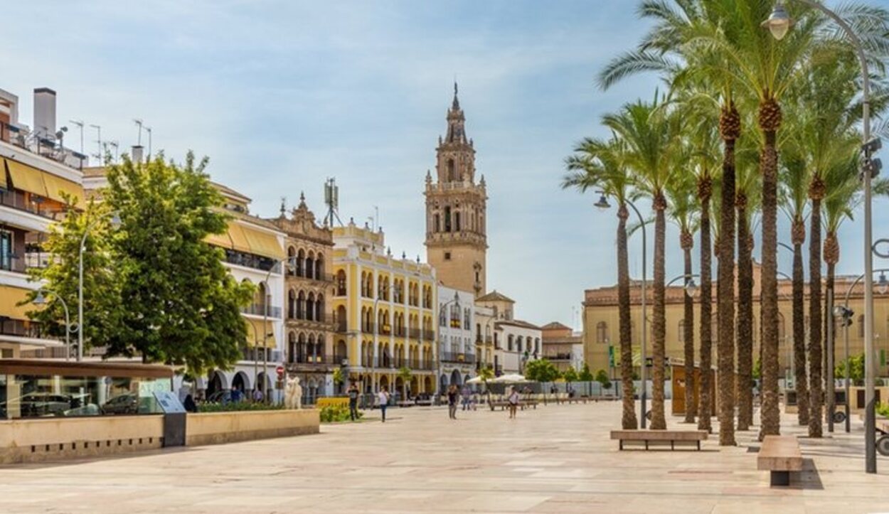
M 872 175 L 879 173 L 881 163 L 879 159 L 872 158 L 874 152 L 880 149 L 879 139 L 870 140 L 870 74 L 868 70 L 868 58 L 864 53 L 864 47 L 861 40 L 855 34 L 849 24 L 840 18 L 836 12 L 829 10 L 823 4 L 813 2 L 813 0 L 796 0 L 800 4 L 805 4 L 813 9 L 823 12 L 831 20 L 843 29 L 845 35 L 852 42 L 855 52 L 858 54 L 858 60 L 861 62 L 861 93 L 862 93 L 862 139 L 863 145 L 861 149 L 864 152 L 864 166 L 862 168 L 861 178 L 864 183 L 864 444 L 865 444 L 865 470 L 868 473 L 877 472 L 877 427 L 875 419 L 875 390 L 874 379 L 876 365 L 874 362 L 874 277 L 873 277 L 873 254 L 871 248 L 873 246 L 872 233 L 872 205 L 870 182 Z M 790 18 L 784 5 L 779 0 L 769 16 L 768 20 L 763 22 L 763 27 L 768 28 L 772 32 L 775 39 L 781 40 L 787 35 L 793 20 Z M 846 398 L 848 400 L 848 398 Z

